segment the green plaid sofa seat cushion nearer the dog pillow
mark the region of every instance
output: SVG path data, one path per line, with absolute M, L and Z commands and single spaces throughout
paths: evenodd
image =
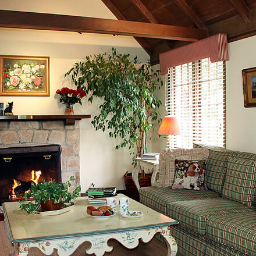
M 238 212 L 250 211 L 253 211 L 253 209 L 239 202 L 224 198 L 212 198 L 172 202 L 167 206 L 166 215 L 179 221 L 181 226 L 199 234 L 205 234 L 206 222 L 209 216 L 232 215 Z

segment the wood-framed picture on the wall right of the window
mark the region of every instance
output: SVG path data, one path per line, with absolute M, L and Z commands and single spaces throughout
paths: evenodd
M 256 107 L 256 67 L 243 69 L 244 107 Z

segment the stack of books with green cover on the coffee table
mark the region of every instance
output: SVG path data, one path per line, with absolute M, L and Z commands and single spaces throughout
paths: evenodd
M 116 187 L 90 187 L 86 194 L 90 204 L 106 202 L 106 197 L 116 195 Z

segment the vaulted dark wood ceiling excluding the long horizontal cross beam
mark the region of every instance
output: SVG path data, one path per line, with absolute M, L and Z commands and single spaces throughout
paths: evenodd
M 208 35 L 227 33 L 229 42 L 256 34 L 256 0 L 102 0 L 119 20 L 194 27 Z M 190 42 L 135 37 L 150 54 L 151 63 L 159 53 Z

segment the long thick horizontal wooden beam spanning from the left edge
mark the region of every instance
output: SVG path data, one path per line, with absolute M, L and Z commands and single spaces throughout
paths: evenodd
M 0 10 L 0 27 L 128 35 L 191 42 L 207 37 L 206 30 L 190 27 L 13 10 Z

